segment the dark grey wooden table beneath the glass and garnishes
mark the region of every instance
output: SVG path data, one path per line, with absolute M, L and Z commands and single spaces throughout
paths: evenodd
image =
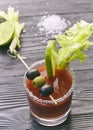
M 19 20 L 25 23 L 20 55 L 27 57 L 28 66 L 44 58 L 46 34 L 37 27 L 41 17 L 56 14 L 71 24 L 80 19 L 93 22 L 93 0 L 0 0 L 0 10 L 7 11 L 9 5 L 19 10 Z M 93 46 L 87 54 L 83 65 L 78 61 L 71 65 L 76 82 L 69 118 L 59 126 L 45 127 L 30 115 L 23 87 L 26 68 L 7 55 L 7 47 L 0 47 L 0 130 L 93 130 Z

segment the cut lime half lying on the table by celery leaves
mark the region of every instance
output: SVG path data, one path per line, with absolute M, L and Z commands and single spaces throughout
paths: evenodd
M 11 22 L 3 22 L 0 24 L 0 46 L 8 44 L 14 34 L 14 25 Z

